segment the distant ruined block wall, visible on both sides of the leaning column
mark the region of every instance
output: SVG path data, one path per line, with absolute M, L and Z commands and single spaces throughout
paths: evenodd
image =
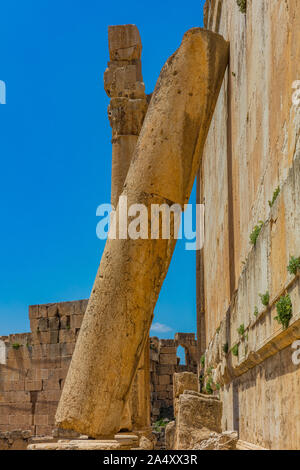
M 23 437 L 59 437 L 54 416 L 68 372 L 76 339 L 81 327 L 87 300 L 34 305 L 29 307 L 31 333 L 0 337 L 0 449 L 11 448 Z M 155 345 L 155 346 L 154 346 Z M 187 365 L 177 365 L 177 347 L 186 348 Z M 196 371 L 195 335 L 177 333 L 174 340 L 151 338 L 149 353 L 151 375 L 151 420 L 173 413 L 172 374 L 181 370 Z M 151 355 L 151 360 L 149 357 Z M 142 367 L 142 364 L 140 364 Z M 149 366 L 146 367 L 149 371 Z M 139 372 L 139 380 L 143 377 Z M 132 394 L 132 425 L 142 429 L 145 417 L 142 393 L 149 394 L 149 379 L 145 387 L 134 381 Z M 63 431 L 60 431 L 63 436 Z M 10 444 L 9 444 L 10 443 Z M 20 443 L 18 443 L 21 448 Z M 13 448 L 13 447 L 12 447 Z

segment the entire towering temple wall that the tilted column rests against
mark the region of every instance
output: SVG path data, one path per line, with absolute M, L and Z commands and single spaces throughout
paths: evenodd
M 230 41 L 230 65 L 198 175 L 205 204 L 198 358 L 206 351 L 206 379 L 209 370 L 221 385 L 224 429 L 273 449 L 300 449 L 300 371 L 291 348 L 300 338 L 300 282 L 299 271 L 287 271 L 290 257 L 300 256 L 300 108 L 292 99 L 300 80 L 299 8 L 300 0 L 248 0 L 246 14 L 236 0 L 205 7 L 205 26 Z M 267 291 L 265 307 L 259 294 Z M 285 330 L 274 317 L 287 293 L 293 317 Z

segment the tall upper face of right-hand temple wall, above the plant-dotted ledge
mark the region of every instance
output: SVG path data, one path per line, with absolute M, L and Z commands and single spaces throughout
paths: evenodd
M 207 27 L 230 41 L 230 67 L 201 167 L 205 308 L 213 312 L 208 339 L 237 288 L 249 235 L 269 217 L 268 201 L 292 166 L 299 129 L 292 103 L 300 77 L 299 0 L 247 3 L 245 15 L 236 0 L 206 2 Z M 288 256 L 285 251 L 283 266 Z

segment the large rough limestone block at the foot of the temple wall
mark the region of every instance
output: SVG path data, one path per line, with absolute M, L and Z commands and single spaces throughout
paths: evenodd
M 176 450 L 194 449 L 211 433 L 221 433 L 222 402 L 194 392 L 183 393 L 178 399 L 176 417 Z

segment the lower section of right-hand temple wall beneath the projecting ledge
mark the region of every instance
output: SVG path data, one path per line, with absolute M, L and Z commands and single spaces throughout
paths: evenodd
M 288 346 L 225 387 L 223 427 L 267 449 L 299 449 L 299 389 L 300 367 Z

